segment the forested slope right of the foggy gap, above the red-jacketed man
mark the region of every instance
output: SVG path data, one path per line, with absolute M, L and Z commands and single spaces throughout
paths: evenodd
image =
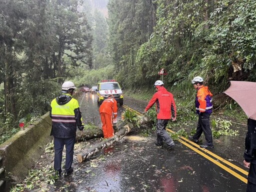
M 168 72 L 165 85 L 186 96 L 195 75 L 203 76 L 214 94 L 229 79 L 255 81 L 253 0 L 109 0 L 108 6 L 113 61 L 125 86 L 151 86 L 162 67 Z M 152 7 L 155 25 L 145 34 L 137 21 L 154 18 Z

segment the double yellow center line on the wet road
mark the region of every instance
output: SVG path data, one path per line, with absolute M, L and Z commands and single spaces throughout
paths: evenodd
M 129 109 L 129 110 L 132 110 L 132 111 L 136 112 L 137 114 L 140 114 L 140 115 L 141 115 L 140 112 L 138 112 L 138 111 L 136 111 L 136 110 L 134 110 L 134 109 L 132 109 L 132 108 L 126 106 L 126 105 L 123 105 L 123 107 L 124 107 L 124 108 L 127 108 L 127 109 Z M 170 129 L 168 129 L 168 128 L 166 128 L 166 130 L 168 130 L 169 132 L 175 133 L 175 131 L 170 130 Z M 198 154 L 202 155 L 203 157 L 205 157 L 206 159 L 210 160 L 210 161 L 213 162 L 214 164 L 216 164 L 216 165 L 218 165 L 219 167 L 223 168 L 225 171 L 231 173 L 232 175 L 234 175 L 236 178 L 240 179 L 241 181 L 247 183 L 247 178 L 241 176 L 240 174 L 238 174 L 238 173 L 236 173 L 235 171 L 231 170 L 231 169 L 228 168 L 227 166 L 221 164 L 219 161 L 221 161 L 221 162 L 223 162 L 223 163 L 225 163 L 225 164 L 231 166 L 232 168 L 236 169 L 237 171 L 240 171 L 241 173 L 243 173 L 243 174 L 245 174 L 245 175 L 248 174 L 248 172 L 247 172 L 246 170 L 244 170 L 244 169 L 242 169 L 242 168 L 236 166 L 235 164 L 233 164 L 233 163 L 227 161 L 226 159 L 224 159 L 224 158 L 222 158 L 222 157 L 216 155 L 215 153 L 213 153 L 213 152 L 211 152 L 211 151 L 209 151 L 209 150 L 207 150 L 207 149 L 205 149 L 205 148 L 200 148 L 200 150 L 203 150 L 205 153 L 202 152 L 202 151 L 200 151 L 200 150 L 198 150 L 197 148 L 195 148 L 195 147 L 193 147 L 193 146 L 190 145 L 190 144 L 192 144 L 192 145 L 198 147 L 197 144 L 195 144 L 194 142 L 192 142 L 192 141 L 186 139 L 186 138 L 183 137 L 183 136 L 180 136 L 180 138 L 182 138 L 183 140 L 186 141 L 186 142 L 184 142 L 183 140 L 178 139 L 178 141 L 179 141 L 180 143 L 184 144 L 185 146 L 189 147 L 189 148 L 192 149 L 193 151 L 195 151 L 195 152 L 197 152 Z M 187 142 L 189 142 L 189 144 L 188 144 Z M 217 160 L 213 159 L 212 157 L 208 156 L 207 154 L 209 154 L 209 155 L 215 157 Z M 218 161 L 218 160 L 219 160 L 219 161 Z

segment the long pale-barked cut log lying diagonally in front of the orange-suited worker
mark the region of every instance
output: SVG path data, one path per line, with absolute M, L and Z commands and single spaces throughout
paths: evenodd
M 82 162 L 88 159 L 94 153 L 100 151 L 101 149 L 110 146 L 113 142 L 120 140 L 123 136 L 125 136 L 130 131 L 129 125 L 124 125 L 122 128 L 119 129 L 118 132 L 111 138 L 107 138 L 106 140 L 101 141 L 98 144 L 95 144 L 93 147 L 86 149 L 84 152 L 77 154 L 78 162 Z

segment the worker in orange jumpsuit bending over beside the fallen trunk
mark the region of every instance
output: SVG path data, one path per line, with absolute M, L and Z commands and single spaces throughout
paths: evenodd
M 114 135 L 112 117 L 116 118 L 117 116 L 117 102 L 112 94 L 108 95 L 108 98 L 101 103 L 99 114 L 104 138 L 112 137 Z

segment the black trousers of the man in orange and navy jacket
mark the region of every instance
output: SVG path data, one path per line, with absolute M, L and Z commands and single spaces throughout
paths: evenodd
M 196 127 L 196 133 L 193 135 L 193 138 L 199 139 L 201 134 L 204 134 L 206 144 L 212 146 L 212 133 L 210 128 L 210 114 L 201 112 L 198 115 L 198 122 Z

